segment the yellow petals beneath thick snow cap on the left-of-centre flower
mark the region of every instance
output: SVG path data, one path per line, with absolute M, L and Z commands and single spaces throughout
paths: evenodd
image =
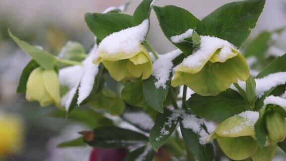
M 152 61 L 146 48 L 140 44 L 139 52 L 116 53 L 97 52 L 98 58 L 93 63 L 102 62 L 111 77 L 117 81 L 133 80 L 142 77 L 143 80 L 152 74 Z

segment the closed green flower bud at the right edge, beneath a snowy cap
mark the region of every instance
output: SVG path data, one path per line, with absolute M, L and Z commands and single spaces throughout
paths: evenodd
M 266 128 L 272 141 L 275 143 L 284 141 L 286 137 L 286 121 L 279 111 L 271 112 L 266 116 Z

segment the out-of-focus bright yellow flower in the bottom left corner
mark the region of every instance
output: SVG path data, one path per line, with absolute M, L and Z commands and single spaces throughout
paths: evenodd
M 0 114 L 0 160 L 22 149 L 23 125 L 13 115 Z

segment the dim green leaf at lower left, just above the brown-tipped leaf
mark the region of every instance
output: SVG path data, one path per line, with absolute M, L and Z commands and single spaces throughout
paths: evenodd
M 110 119 L 103 116 L 101 113 L 94 112 L 90 109 L 75 109 L 66 117 L 66 111 L 57 109 L 51 113 L 46 114 L 47 117 L 68 119 L 76 122 L 83 123 L 91 128 L 101 127 L 101 126 L 111 126 L 113 123 Z

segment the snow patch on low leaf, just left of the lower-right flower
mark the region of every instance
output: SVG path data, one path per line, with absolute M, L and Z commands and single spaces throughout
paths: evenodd
M 209 134 L 202 127 L 204 124 L 204 119 L 197 118 L 192 114 L 183 114 L 183 126 L 186 129 L 191 129 L 193 132 L 200 135 L 200 144 L 205 145 Z

